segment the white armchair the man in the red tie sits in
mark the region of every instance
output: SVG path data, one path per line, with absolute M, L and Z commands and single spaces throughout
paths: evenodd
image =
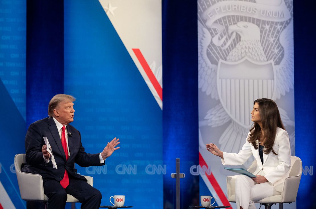
M 44 202 L 47 207 L 48 197 L 44 194 L 43 179 L 39 174 L 24 173 L 21 171 L 22 163 L 25 163 L 25 154 L 17 154 L 14 157 L 14 167 L 20 188 L 21 199 L 26 201 Z M 88 184 L 93 186 L 93 177 L 84 176 Z M 67 202 L 79 202 L 74 196 L 67 194 Z

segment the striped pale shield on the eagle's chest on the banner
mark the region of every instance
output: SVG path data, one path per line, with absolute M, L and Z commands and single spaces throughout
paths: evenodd
M 253 101 L 274 98 L 275 76 L 272 60 L 255 62 L 247 57 L 237 62 L 219 60 L 217 91 L 227 114 L 236 123 L 249 129 Z

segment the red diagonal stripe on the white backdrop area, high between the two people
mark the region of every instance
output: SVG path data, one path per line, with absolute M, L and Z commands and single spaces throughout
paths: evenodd
M 139 63 L 142 65 L 146 75 L 148 76 L 150 82 L 153 84 L 155 90 L 157 91 L 161 101 L 162 101 L 162 88 L 159 84 L 159 82 L 157 81 L 157 78 L 155 77 L 153 71 L 151 71 L 148 63 L 146 62 L 146 59 L 144 58 L 142 52 L 140 52 L 139 49 L 132 49 L 133 52 L 135 53 Z

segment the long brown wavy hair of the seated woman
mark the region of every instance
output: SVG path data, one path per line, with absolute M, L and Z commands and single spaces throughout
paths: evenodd
M 272 151 L 273 154 L 277 155 L 272 149 L 276 137 L 276 128 L 280 127 L 285 130 L 279 109 L 277 108 L 276 103 L 271 99 L 257 99 L 253 102 L 253 105 L 255 105 L 255 103 L 258 103 L 259 105 L 259 114 L 264 132 L 264 153 L 269 154 L 270 151 Z M 261 127 L 258 123 L 254 122 L 249 131 L 250 135 L 248 137 L 248 142 L 257 150 L 259 145 L 256 144 L 256 140 L 260 139 Z

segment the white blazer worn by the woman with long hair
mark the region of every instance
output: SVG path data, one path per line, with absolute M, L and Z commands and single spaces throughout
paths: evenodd
M 249 136 L 250 132 L 248 133 Z M 248 158 L 253 155 L 257 160 L 257 169 L 253 173 L 257 175 L 260 171 L 264 171 L 264 177 L 274 185 L 276 191 L 283 190 L 283 183 L 286 177 L 289 177 L 289 169 L 291 167 L 291 149 L 289 134 L 282 128 L 277 127 L 276 138 L 273 144 L 273 150 L 269 154 L 263 153 L 263 164 L 259 156 L 259 149 L 255 150 L 251 143 L 246 139 L 246 143 L 238 154 L 224 152 L 223 165 L 242 165 Z

